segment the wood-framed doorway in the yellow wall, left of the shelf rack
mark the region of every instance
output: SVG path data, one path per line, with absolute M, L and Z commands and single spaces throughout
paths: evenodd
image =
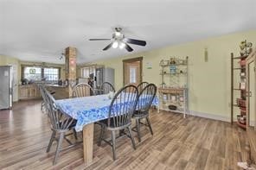
M 124 85 L 136 85 L 142 82 L 143 57 L 123 60 Z

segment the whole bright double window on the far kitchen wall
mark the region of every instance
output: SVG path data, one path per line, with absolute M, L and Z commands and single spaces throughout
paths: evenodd
M 42 68 L 39 66 L 22 66 L 22 78 L 29 81 L 57 81 L 60 79 L 60 68 Z

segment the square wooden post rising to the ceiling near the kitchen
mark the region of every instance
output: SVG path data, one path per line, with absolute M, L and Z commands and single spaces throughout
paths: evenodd
M 66 79 L 68 80 L 68 94 L 72 97 L 72 89 L 76 84 L 76 48 L 67 47 L 65 50 L 66 57 Z

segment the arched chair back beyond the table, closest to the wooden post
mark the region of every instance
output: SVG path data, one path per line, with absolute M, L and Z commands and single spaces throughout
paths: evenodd
M 81 98 L 81 97 L 87 97 L 87 96 L 94 96 L 93 88 L 86 84 L 86 83 L 80 83 L 78 85 L 75 85 L 72 91 L 72 98 Z

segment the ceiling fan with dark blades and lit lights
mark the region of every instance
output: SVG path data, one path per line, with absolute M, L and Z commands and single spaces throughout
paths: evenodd
M 120 49 L 125 48 L 128 52 L 132 52 L 133 49 L 129 44 L 134 44 L 138 46 L 145 46 L 146 41 L 140 41 L 140 40 L 135 40 L 131 38 L 125 38 L 125 35 L 121 33 L 122 28 L 115 28 L 115 32 L 112 34 L 112 39 L 89 39 L 89 41 L 111 41 L 112 42 L 107 45 L 105 48 L 103 48 L 104 51 L 108 50 L 110 47 L 117 48 L 119 47 Z

